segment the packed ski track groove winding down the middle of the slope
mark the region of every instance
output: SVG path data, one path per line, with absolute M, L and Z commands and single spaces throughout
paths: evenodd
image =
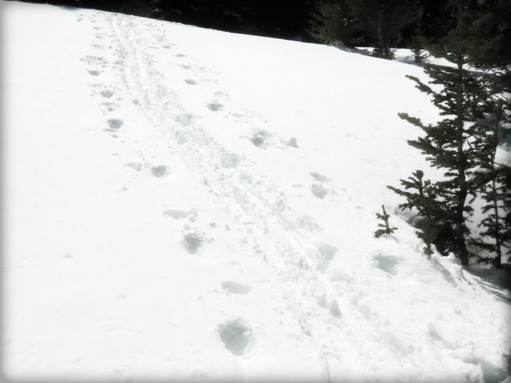
M 223 205 L 233 208 L 232 211 L 241 210 L 254 220 L 260 231 L 256 237 L 263 240 L 258 242 L 268 248 L 266 253 L 278 254 L 278 259 L 268 262 L 277 270 L 284 286 L 292 282 L 292 297 L 287 299 L 292 300 L 299 322 L 305 324 L 304 333 L 309 332 L 309 337 L 316 344 L 323 380 L 337 380 L 335 376 L 347 371 L 337 344 L 343 346 L 344 354 L 357 354 L 357 349 L 346 348 L 350 344 L 346 340 L 348 329 L 360 341 L 358 351 L 388 351 L 388 346 L 378 341 L 382 335 L 381 323 L 385 321 L 378 313 L 365 308 L 377 317 L 376 322 L 379 323 L 374 323 L 374 318 L 369 320 L 352 313 L 342 312 L 341 318 L 330 313 L 328 306 L 333 301 L 337 302 L 339 294 L 326 278 L 328 262 L 321 259 L 318 250 L 320 241 L 315 239 L 322 228 L 313 218 L 294 212 L 287 205 L 284 193 L 264 175 L 257 173 L 250 159 L 230 152 L 216 142 L 195 121 L 194 115 L 183 109 L 177 94 L 161 85 L 160 80 L 164 77 L 152 68 L 143 38 L 136 35 L 136 23 L 133 16 L 114 15 L 111 18 L 120 45 L 123 77 L 128 90 L 136 97 L 138 106 L 153 126 L 179 148 L 185 162 L 204 177 L 206 185 Z M 271 245 L 266 245 L 268 242 Z M 354 283 L 352 288 L 360 290 L 358 283 Z M 316 301 L 315 291 L 324 292 L 326 305 Z M 298 296 L 306 297 L 305 306 L 304 297 L 300 300 Z M 364 326 L 360 326 L 360 321 L 364 322 Z M 325 330 L 326 327 L 329 329 Z M 368 367 L 354 366 L 353 363 L 352 358 L 352 366 L 347 367 L 348 370 Z

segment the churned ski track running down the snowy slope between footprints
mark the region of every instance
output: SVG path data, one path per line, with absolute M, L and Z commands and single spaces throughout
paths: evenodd
M 264 249 L 269 265 L 282 280 L 283 296 L 289 303 L 287 309 L 293 311 L 304 334 L 315 343 L 323 380 L 361 378 L 360 371 L 366 371 L 362 378 L 369 380 L 381 378 L 382 373 L 391 375 L 391 365 L 388 371 L 378 371 L 373 363 L 360 365 L 359 355 L 375 358 L 393 355 L 389 347 L 395 348 L 403 342 L 387 330 L 386 318 L 367 305 L 350 306 L 341 301 L 346 289 L 338 288 L 327 276 L 329 260 L 321 248 L 329 245 L 321 241 L 322 228 L 312 217 L 293 211 L 284 193 L 257 171 L 253 161 L 217 142 L 179 104 L 178 95 L 165 87 L 165 77 L 146 53 L 155 43 L 164 43 L 165 37 L 156 37 L 158 41 L 152 44 L 144 41 L 137 28 L 148 27 L 142 21 L 145 19 L 103 13 L 94 17 L 98 16 L 102 17 L 99 22 L 112 28 L 109 37 L 112 44 L 118 45 L 114 52 L 119 58 L 114 66 L 121 71 L 138 107 L 169 145 L 177 149 L 185 163 L 204 179 L 226 211 L 248 215 L 255 223 L 255 231 L 245 228 L 255 238 L 256 245 Z M 164 45 L 167 46 L 170 45 Z M 363 294 L 364 286 L 358 281 L 349 278 L 347 283 L 347 291 L 352 295 Z M 406 352 L 403 356 L 415 368 L 415 378 L 417 373 L 421 375 L 422 368 L 414 358 Z M 400 358 L 393 362 L 405 361 Z M 400 378 L 406 381 L 410 376 Z

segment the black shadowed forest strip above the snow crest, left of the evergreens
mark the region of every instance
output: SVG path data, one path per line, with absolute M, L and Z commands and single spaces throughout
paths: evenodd
M 203 28 L 312 42 L 306 32 L 315 0 L 49 0 L 49 3 L 120 12 Z

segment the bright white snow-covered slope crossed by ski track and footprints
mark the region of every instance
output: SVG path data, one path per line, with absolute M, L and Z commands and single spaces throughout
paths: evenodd
M 2 3 L 3 373 L 501 381 L 509 294 L 375 212 L 405 74 L 334 47 Z

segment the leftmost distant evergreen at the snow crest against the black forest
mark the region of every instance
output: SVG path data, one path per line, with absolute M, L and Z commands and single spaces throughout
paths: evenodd
M 309 22 L 308 32 L 316 40 L 353 46 L 353 20 L 345 0 L 319 0 Z

